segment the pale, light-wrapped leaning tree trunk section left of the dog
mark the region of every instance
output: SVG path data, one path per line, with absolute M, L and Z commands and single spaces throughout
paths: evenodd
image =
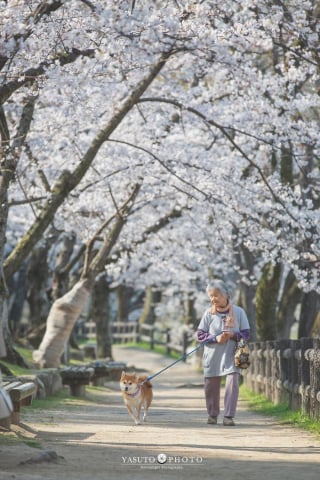
M 88 301 L 91 286 L 89 280 L 79 280 L 63 297 L 56 300 L 50 310 L 47 328 L 33 360 L 40 368 L 58 368 L 66 342 Z

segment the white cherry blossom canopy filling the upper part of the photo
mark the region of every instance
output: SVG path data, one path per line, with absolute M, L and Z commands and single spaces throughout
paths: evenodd
M 318 301 L 317 2 L 8 1 L 1 15 L 2 278 L 52 222 L 86 241 L 108 187 L 124 201 L 143 178 L 117 282 L 197 291 L 212 270 L 250 302 L 270 264 Z M 139 243 L 173 206 L 181 218 Z

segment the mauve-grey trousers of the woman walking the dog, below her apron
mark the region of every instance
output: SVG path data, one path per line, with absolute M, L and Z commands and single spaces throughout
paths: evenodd
M 204 392 L 207 412 L 210 417 L 217 417 L 220 413 L 220 386 L 222 377 L 205 377 Z M 239 397 L 239 373 L 226 375 L 224 391 L 224 416 L 234 417 Z

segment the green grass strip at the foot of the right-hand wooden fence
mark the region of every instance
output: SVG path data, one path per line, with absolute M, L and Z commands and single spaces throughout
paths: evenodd
M 292 411 L 285 404 L 274 405 L 263 395 L 257 395 L 248 390 L 245 385 L 241 385 L 240 395 L 247 402 L 250 410 L 275 417 L 282 424 L 292 425 L 320 435 L 320 421 L 310 419 L 307 415 L 303 415 L 301 411 Z

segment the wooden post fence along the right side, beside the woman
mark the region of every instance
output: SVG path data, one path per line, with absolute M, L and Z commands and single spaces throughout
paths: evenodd
M 254 342 L 249 347 L 251 365 L 243 371 L 248 389 L 320 419 L 320 339 Z

